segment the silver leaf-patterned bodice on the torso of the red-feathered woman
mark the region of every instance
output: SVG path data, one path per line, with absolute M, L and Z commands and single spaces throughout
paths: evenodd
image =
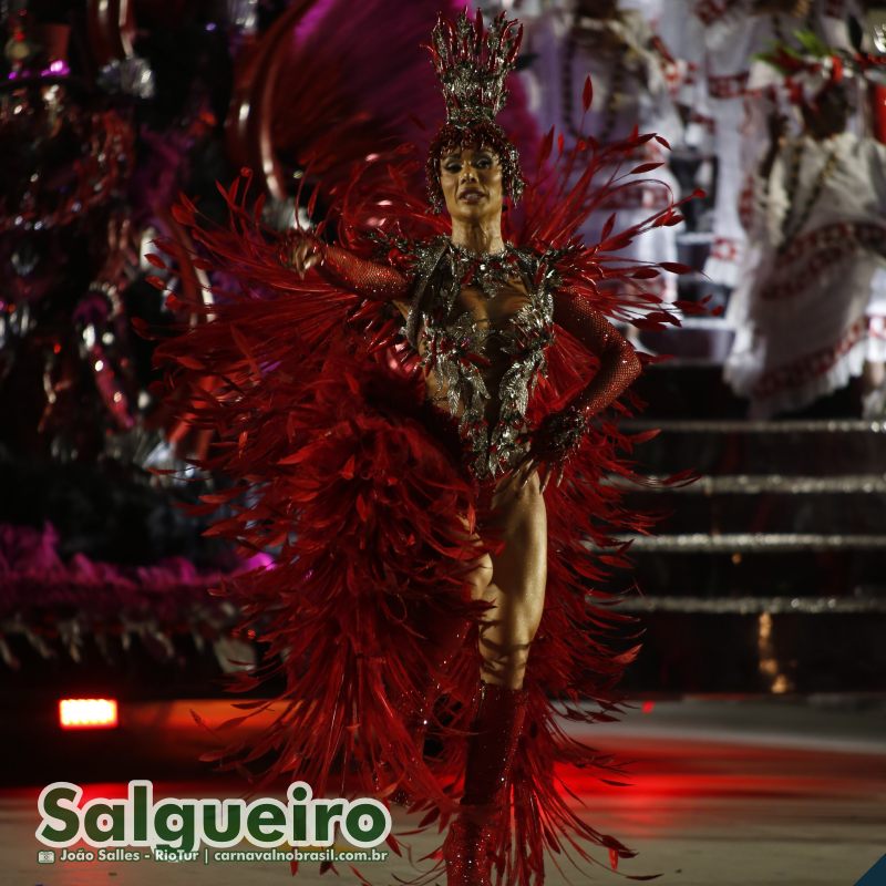
M 497 256 L 475 257 L 475 262 L 486 265 L 481 271 L 487 277 L 485 286 L 482 278 L 476 280 L 481 291 L 511 277 L 523 281 L 528 296 L 516 313 L 492 326 L 459 310 L 466 285 L 463 250 L 439 238 L 418 245 L 415 253 L 408 337 L 443 392 L 435 402 L 459 420 L 471 473 L 481 481 L 495 478 L 513 468 L 528 449 L 526 410 L 539 373 L 546 371 L 545 349 L 554 340 L 552 293 L 557 275 L 549 267 L 552 256 L 507 247 Z M 484 368 L 493 364 L 491 357 L 505 365 L 493 390 L 484 374 Z

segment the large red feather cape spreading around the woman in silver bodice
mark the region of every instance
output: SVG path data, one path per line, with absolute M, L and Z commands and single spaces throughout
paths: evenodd
M 674 322 L 642 289 L 661 268 L 609 254 L 643 229 L 677 224 L 677 207 L 617 234 L 614 218 L 600 244 L 575 237 L 595 206 L 630 186 L 614 175 L 591 189 L 595 173 L 651 137 L 658 136 L 635 135 L 607 148 L 579 144 L 559 156 L 555 172 L 527 188 L 522 229 L 509 233 L 523 248 L 570 247 L 557 266 L 564 280 L 557 298 L 588 300 L 612 319 L 646 326 Z M 550 168 L 552 145 L 549 135 L 538 168 Z M 330 222 L 339 243 L 369 255 L 372 247 L 360 236 L 367 228 L 413 239 L 445 230 L 408 190 L 415 172 L 409 156 L 404 151 L 379 158 L 371 175 L 338 188 Z M 569 187 L 574 164 L 586 172 Z M 477 513 L 476 490 L 424 420 L 399 315 L 316 271 L 300 279 L 281 267 L 279 238 L 260 224 L 260 200 L 253 204 L 248 184 L 245 171 L 223 189 L 226 226 L 209 224 L 186 198 L 175 208 L 196 244 L 197 267 L 223 271 L 220 278 L 236 285 L 214 290 L 207 322 L 158 350 L 169 385 L 193 392 L 187 421 L 214 434 L 199 466 L 233 484 L 206 498 L 207 511 L 225 507 L 212 532 L 275 557 L 272 568 L 237 576 L 222 593 L 241 607 L 244 627 L 266 645 L 262 666 L 243 673 L 235 691 L 268 678 L 284 687 L 267 703 L 244 703 L 245 717 L 268 707 L 277 717 L 259 740 L 226 748 L 217 759 L 222 767 L 244 772 L 260 762 L 257 790 L 281 775 L 308 782 L 316 796 L 387 796 L 404 786 L 413 810 L 425 813 L 419 827 L 442 831 L 460 794 L 480 664 L 475 622 L 482 605 L 466 601 L 464 584 L 478 553 L 464 540 L 465 521 L 473 525 Z M 166 264 L 161 256 L 152 260 Z M 408 257 L 392 253 L 390 260 L 408 268 Z M 530 420 L 585 384 L 595 361 L 559 331 L 548 365 Z M 602 864 L 594 852 L 602 847 L 611 868 L 633 855 L 580 817 L 558 771 L 573 765 L 602 779 L 620 771 L 567 734 L 563 718 L 614 719 L 624 703 L 619 678 L 639 649 L 636 620 L 614 608 L 618 595 L 598 589 L 611 568 L 625 565 L 618 535 L 650 527 L 621 504 L 624 484 L 611 482 L 641 480 L 631 462 L 640 437 L 621 432 L 616 421 L 629 411 L 621 403 L 601 416 L 562 485 L 545 494 L 548 581 L 525 680 L 527 728 L 514 764 L 513 821 L 502 833 L 503 883 L 542 883 L 546 854 L 558 866 L 567 857 Z M 441 669 L 429 631 L 461 618 L 472 619 L 474 629 Z M 437 687 L 442 752 L 418 761 L 403 699 L 426 680 Z M 401 852 L 393 835 L 389 844 Z M 368 882 L 364 873 L 354 870 L 360 882 Z M 439 875 L 437 867 L 425 882 Z

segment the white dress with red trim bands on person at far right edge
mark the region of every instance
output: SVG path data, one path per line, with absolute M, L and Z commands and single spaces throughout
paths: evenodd
M 767 187 L 756 176 L 754 192 L 748 264 L 755 272 L 730 301 L 735 340 L 723 377 L 751 400 L 752 418 L 769 418 L 842 388 L 866 358 L 877 358 L 886 315 L 886 146 L 853 133 L 792 140 Z

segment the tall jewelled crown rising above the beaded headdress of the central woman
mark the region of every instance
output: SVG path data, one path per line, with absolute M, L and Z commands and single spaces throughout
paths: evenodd
M 480 11 L 473 21 L 465 10 L 454 24 L 437 19 L 427 49 L 443 85 L 447 123 L 470 126 L 495 119 L 507 99 L 505 78 L 516 64 L 522 40 L 523 25 L 507 21 L 504 12 L 485 32 Z

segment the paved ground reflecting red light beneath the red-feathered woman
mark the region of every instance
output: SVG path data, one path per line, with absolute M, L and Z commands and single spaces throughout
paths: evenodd
M 584 813 L 639 855 L 627 875 L 660 874 L 661 886 L 853 886 L 886 854 L 886 701 L 681 701 L 629 713 L 583 734 L 635 761 L 633 786 L 614 789 L 570 777 Z M 138 773 L 134 772 L 133 776 Z M 286 864 L 37 864 L 37 795 L 42 785 L 0 791 L 0 884 L 6 886 L 244 886 L 349 884 L 347 868 L 322 878 Z M 237 796 L 198 783 L 157 783 L 157 796 Z M 121 785 L 94 784 L 94 795 Z M 408 826 L 395 817 L 395 830 Z M 419 853 L 433 841 L 416 841 Z M 247 847 L 245 847 L 247 848 Z M 601 858 L 605 863 L 606 859 Z M 409 868 L 379 863 L 373 883 L 391 886 Z M 431 883 L 444 884 L 443 877 Z M 602 868 L 574 883 L 624 882 Z M 567 880 L 552 868 L 547 886 Z M 886 885 L 882 879 L 865 886 Z

